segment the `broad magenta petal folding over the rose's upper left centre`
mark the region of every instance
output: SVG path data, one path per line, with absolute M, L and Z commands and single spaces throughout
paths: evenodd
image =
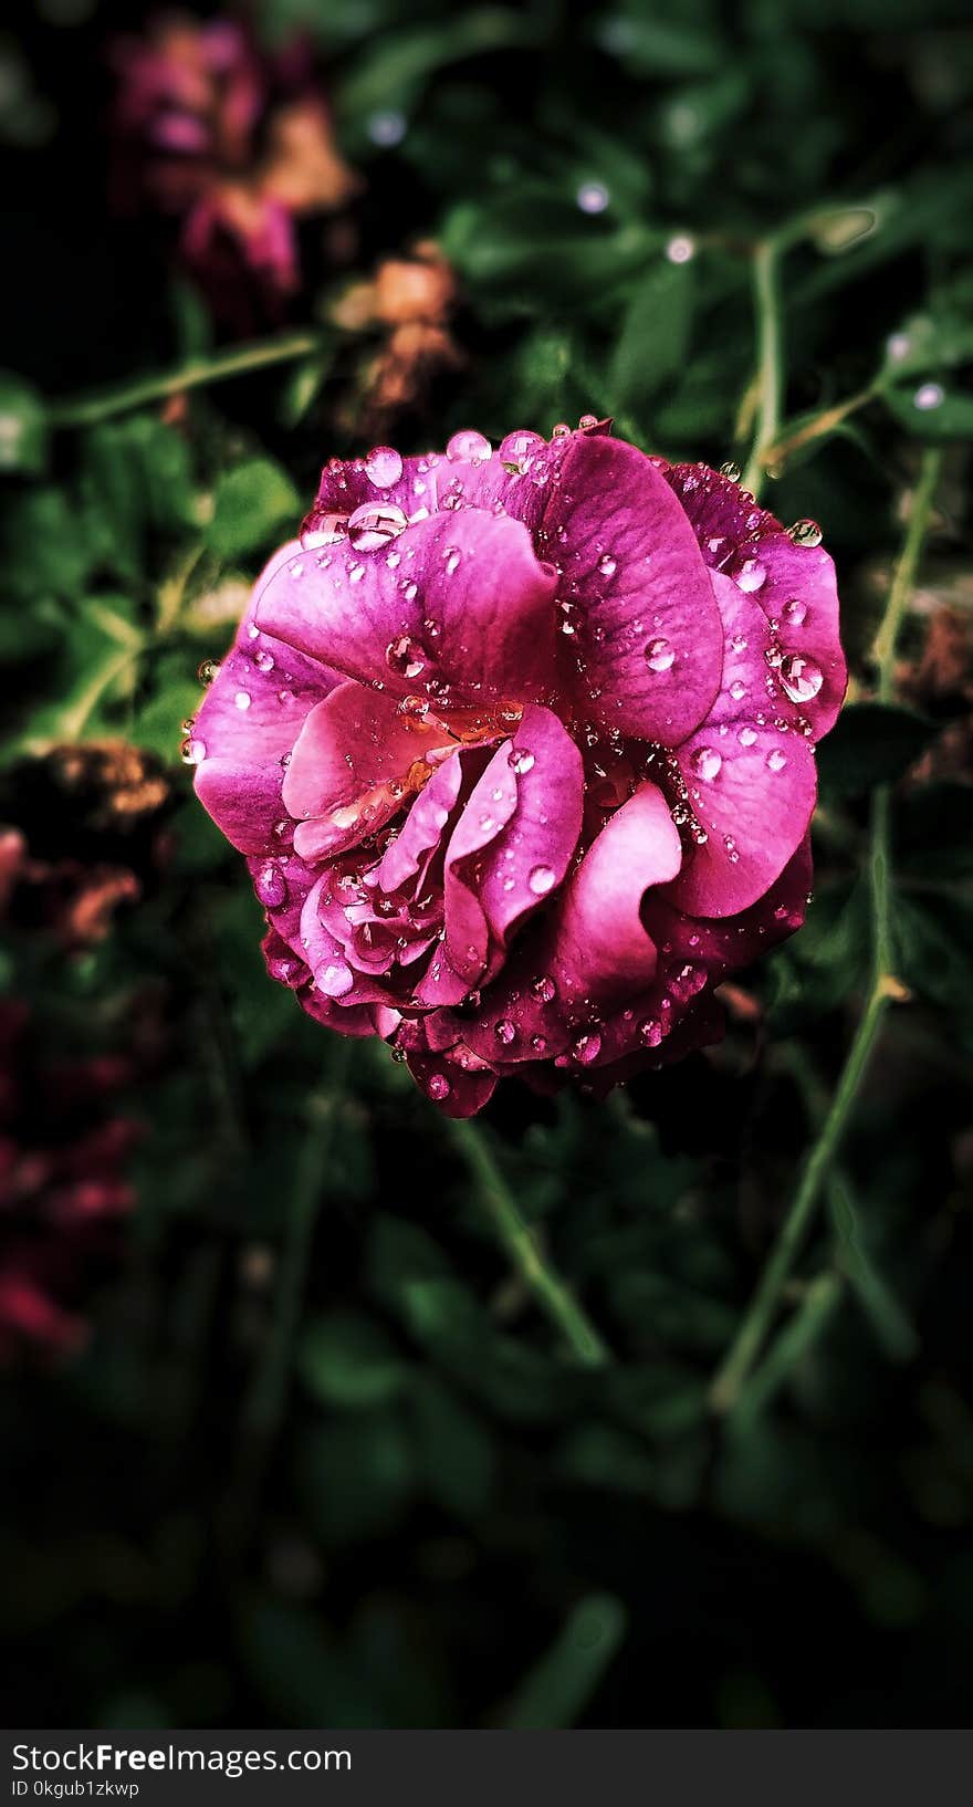
M 348 678 L 437 707 L 551 687 L 556 575 L 520 522 L 464 510 L 372 551 L 287 551 L 258 596 L 260 625 Z

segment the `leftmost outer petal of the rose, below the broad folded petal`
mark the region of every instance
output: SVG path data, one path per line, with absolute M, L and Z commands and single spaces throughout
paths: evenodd
M 267 571 L 276 569 L 280 555 Z M 240 853 L 273 853 L 283 764 L 301 723 L 336 676 L 256 631 L 247 618 L 195 717 L 188 754 L 204 810 Z

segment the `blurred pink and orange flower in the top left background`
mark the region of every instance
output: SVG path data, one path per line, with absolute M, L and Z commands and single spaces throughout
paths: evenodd
M 262 54 L 235 20 L 170 14 L 112 47 L 119 210 L 179 222 L 179 255 L 231 332 L 287 314 L 298 222 L 343 208 L 341 159 L 303 40 Z

